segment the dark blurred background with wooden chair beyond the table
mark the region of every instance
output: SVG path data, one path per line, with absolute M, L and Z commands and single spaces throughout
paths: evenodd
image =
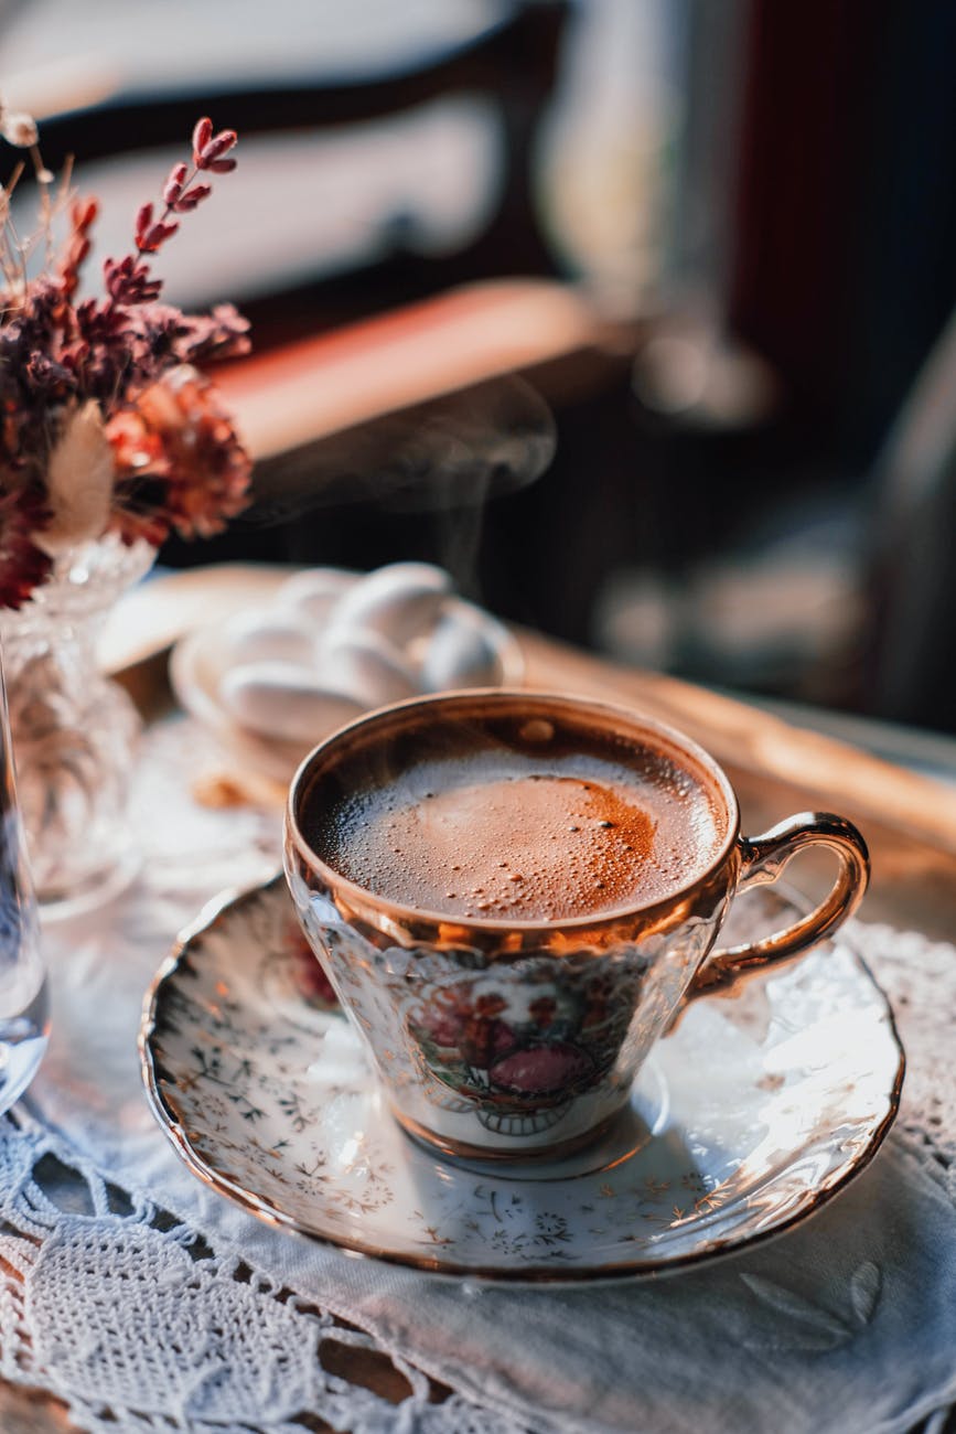
M 162 272 L 251 318 L 281 433 L 249 519 L 162 562 L 426 558 L 621 661 L 940 733 L 955 73 L 949 0 L 0 0 L 100 257 L 201 113 L 241 133 Z

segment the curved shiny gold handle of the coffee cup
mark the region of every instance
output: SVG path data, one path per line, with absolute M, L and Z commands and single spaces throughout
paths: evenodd
M 761 836 L 740 836 L 737 892 L 775 882 L 791 856 L 808 846 L 826 846 L 840 863 L 837 879 L 820 905 L 791 926 L 774 931 L 763 941 L 712 951 L 697 972 L 687 999 L 731 992 L 745 977 L 768 967 L 783 967 L 824 941 L 850 916 L 870 879 L 870 853 L 853 822 L 831 812 L 801 812 Z

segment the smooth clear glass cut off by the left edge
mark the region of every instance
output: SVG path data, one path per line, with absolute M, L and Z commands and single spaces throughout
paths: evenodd
M 0 1113 L 26 1090 L 46 1040 L 46 974 L 36 899 L 23 855 L 0 665 Z

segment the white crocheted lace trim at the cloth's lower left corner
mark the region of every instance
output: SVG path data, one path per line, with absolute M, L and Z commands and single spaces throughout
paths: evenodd
M 0 1375 L 89 1434 L 519 1434 L 295 1291 L 103 1180 L 23 1110 L 0 1121 Z M 393 1404 L 325 1368 L 374 1351 Z M 330 1358 L 330 1352 L 333 1357 Z M 440 1391 L 439 1391 L 440 1392 Z

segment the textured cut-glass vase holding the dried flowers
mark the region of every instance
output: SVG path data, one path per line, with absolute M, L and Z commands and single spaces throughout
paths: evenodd
M 0 615 L 20 812 L 44 911 L 92 906 L 138 866 L 126 809 L 140 718 L 99 671 L 96 644 L 153 558 L 145 542 L 83 543 L 56 559 L 29 602 Z

